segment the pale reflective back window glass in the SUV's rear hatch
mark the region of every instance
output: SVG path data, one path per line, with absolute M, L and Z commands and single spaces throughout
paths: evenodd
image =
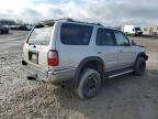
M 35 26 L 35 29 L 29 36 L 27 43 L 35 45 L 48 45 L 52 35 L 52 29 L 53 26 L 48 25 Z

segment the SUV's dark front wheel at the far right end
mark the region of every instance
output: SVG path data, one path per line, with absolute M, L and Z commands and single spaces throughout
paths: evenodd
M 134 66 L 134 74 L 143 75 L 145 69 L 146 69 L 146 60 L 144 57 L 138 57 Z

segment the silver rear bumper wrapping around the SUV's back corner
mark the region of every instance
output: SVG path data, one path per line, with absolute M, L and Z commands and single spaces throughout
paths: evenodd
M 22 61 L 22 65 L 24 66 L 27 74 L 34 77 L 36 80 L 50 82 L 55 84 L 72 79 L 76 73 L 76 68 L 42 72 L 32 67 L 24 61 Z

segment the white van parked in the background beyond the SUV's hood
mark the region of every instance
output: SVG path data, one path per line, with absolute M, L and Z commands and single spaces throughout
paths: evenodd
M 122 31 L 125 34 L 131 34 L 131 35 L 142 35 L 143 31 L 139 26 L 135 26 L 135 25 L 124 25 L 122 28 Z

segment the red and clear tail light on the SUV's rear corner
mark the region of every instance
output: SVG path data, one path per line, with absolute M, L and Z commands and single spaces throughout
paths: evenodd
M 58 58 L 58 52 L 56 50 L 48 51 L 47 62 L 48 66 L 58 66 L 59 58 Z

